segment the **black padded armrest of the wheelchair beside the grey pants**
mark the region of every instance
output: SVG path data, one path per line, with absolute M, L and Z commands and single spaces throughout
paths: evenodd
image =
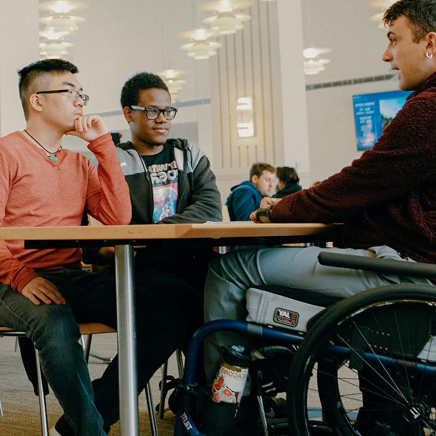
M 328 253 L 318 255 L 321 265 L 339 266 L 341 268 L 363 269 L 366 271 L 393 273 L 414 277 L 436 277 L 436 265 L 417 262 L 402 262 L 391 259 L 355 256 L 352 254 Z

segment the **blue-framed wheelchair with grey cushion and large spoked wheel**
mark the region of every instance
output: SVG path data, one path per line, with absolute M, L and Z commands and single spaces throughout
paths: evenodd
M 323 265 L 436 277 L 430 264 L 328 252 L 318 259 Z M 250 294 L 262 299 L 280 293 L 269 291 L 249 289 L 248 307 Z M 220 330 L 297 347 L 286 387 L 287 435 L 436 435 L 436 287 L 393 284 L 343 299 L 309 293 L 302 300 L 296 291 L 282 293 L 286 297 L 265 319 L 249 310 L 250 322 L 216 320 L 196 331 L 179 386 L 174 435 L 203 434 L 193 419 L 197 357 L 204 338 Z M 260 434 L 276 434 L 265 414 L 260 421 Z

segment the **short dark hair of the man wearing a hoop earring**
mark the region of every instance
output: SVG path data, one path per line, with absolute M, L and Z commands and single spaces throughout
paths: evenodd
M 413 42 L 418 43 L 429 32 L 436 32 L 436 0 L 399 0 L 383 16 L 385 26 L 404 15 L 413 26 Z

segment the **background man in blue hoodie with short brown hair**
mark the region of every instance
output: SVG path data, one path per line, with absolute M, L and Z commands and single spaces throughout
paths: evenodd
M 262 198 L 271 193 L 274 172 L 272 165 L 255 163 L 250 168 L 250 180 L 230 189 L 226 205 L 231 221 L 249 221 L 250 213 L 258 209 Z

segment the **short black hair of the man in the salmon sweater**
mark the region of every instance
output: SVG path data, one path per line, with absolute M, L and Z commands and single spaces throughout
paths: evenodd
M 78 73 L 78 67 L 64 59 L 44 59 L 42 61 L 32 62 L 30 65 L 18 70 L 18 91 L 20 93 L 21 105 L 23 106 L 24 117 L 27 120 L 29 111 L 29 97 L 36 92 L 33 89 L 35 79 L 47 74 L 62 74 L 70 72 Z

